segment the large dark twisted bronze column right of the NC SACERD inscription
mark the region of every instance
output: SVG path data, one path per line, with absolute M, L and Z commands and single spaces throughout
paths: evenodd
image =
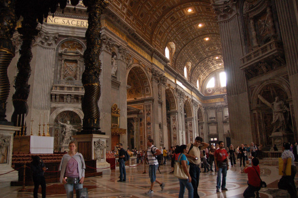
M 105 134 L 100 131 L 100 110 L 98 101 L 101 94 L 99 75 L 101 73 L 101 62 L 99 55 L 102 48 L 101 40 L 101 15 L 107 6 L 105 0 L 83 0 L 87 6 L 88 29 L 85 34 L 87 47 L 84 52 L 85 71 L 82 75 L 82 83 L 85 94 L 82 100 L 84 112 L 82 133 Z

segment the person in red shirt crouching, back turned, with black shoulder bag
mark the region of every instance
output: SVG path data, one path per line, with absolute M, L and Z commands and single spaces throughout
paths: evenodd
M 248 164 L 246 164 L 245 168 L 243 169 L 244 173 L 247 173 L 248 177 L 248 187 L 245 189 L 243 193 L 244 198 L 250 198 L 255 197 L 259 198 L 258 191 L 261 189 L 261 179 L 259 177 L 260 175 L 260 168 L 258 166 L 259 160 L 258 158 L 252 159 L 252 167 L 248 167 Z

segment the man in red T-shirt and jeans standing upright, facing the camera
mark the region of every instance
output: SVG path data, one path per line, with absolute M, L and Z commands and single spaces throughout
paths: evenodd
M 214 161 L 215 161 L 215 169 L 217 171 L 217 179 L 216 179 L 216 193 L 219 192 L 221 174 L 222 174 L 222 183 L 221 190 L 227 191 L 226 188 L 226 176 L 227 171 L 229 170 L 229 162 L 228 162 L 228 152 L 224 149 L 223 141 L 218 142 L 219 149 L 214 152 Z

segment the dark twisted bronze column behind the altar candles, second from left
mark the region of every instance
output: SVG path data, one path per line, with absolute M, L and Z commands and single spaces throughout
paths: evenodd
M 32 10 L 31 10 L 32 11 Z M 28 85 L 28 80 L 31 75 L 31 66 L 30 62 L 32 59 L 32 42 L 35 39 L 35 36 L 39 33 L 39 30 L 36 29 L 37 20 L 35 16 L 30 16 L 28 14 L 23 15 L 23 21 L 21 22 L 21 27 L 18 28 L 18 32 L 21 34 L 22 44 L 20 49 L 20 58 L 17 64 L 18 74 L 15 79 L 16 89 L 15 93 L 12 96 L 14 112 L 11 116 L 11 120 L 16 123 L 17 115 L 19 115 L 18 126 L 24 126 L 22 128 L 21 134 L 26 135 L 26 123 L 22 122 L 20 119 L 21 114 L 28 114 L 28 104 L 27 99 L 30 92 L 30 85 Z M 25 118 L 23 118 L 25 119 Z

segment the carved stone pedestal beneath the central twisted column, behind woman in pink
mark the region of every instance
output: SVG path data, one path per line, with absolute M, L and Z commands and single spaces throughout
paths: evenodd
M 84 159 L 96 159 L 96 168 L 107 168 L 110 166 L 106 162 L 106 140 L 109 138 L 109 135 L 77 134 L 72 137 L 76 139 L 77 151 L 83 154 Z M 97 170 L 97 172 L 101 171 Z

